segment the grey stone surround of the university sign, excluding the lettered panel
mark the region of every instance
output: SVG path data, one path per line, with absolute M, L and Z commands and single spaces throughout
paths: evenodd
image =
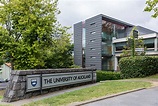
M 62 85 L 58 87 L 52 87 L 42 90 L 35 90 L 27 92 L 27 75 L 39 75 L 39 74 L 57 74 L 57 73 L 78 73 L 78 72 L 86 72 L 91 71 L 92 80 L 86 82 L 78 82 L 75 84 Z M 64 74 L 64 75 L 65 75 Z M 84 84 L 94 83 L 96 82 L 96 69 L 90 68 L 79 68 L 79 69 L 38 69 L 38 70 L 21 70 L 21 71 L 12 71 L 10 81 L 8 82 L 6 91 L 4 93 L 4 97 L 2 99 L 3 102 L 13 102 L 21 99 L 30 98 L 32 96 L 37 96 L 40 94 L 46 94 L 49 92 L 66 89 L 74 86 L 80 86 Z

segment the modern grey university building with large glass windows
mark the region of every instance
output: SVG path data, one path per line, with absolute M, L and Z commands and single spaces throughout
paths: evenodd
M 100 14 L 74 24 L 74 62 L 81 67 L 118 70 L 118 60 L 135 25 Z M 158 32 L 136 26 L 146 55 L 158 55 Z

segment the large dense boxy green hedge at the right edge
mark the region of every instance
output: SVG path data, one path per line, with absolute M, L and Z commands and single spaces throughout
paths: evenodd
M 158 56 L 124 57 L 119 61 L 123 78 L 140 78 L 158 73 Z

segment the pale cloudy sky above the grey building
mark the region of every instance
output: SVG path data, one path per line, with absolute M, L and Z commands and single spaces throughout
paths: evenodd
M 61 14 L 57 16 L 63 26 L 84 21 L 98 14 L 104 14 L 124 22 L 143 26 L 158 32 L 158 18 L 152 12 L 144 12 L 146 0 L 59 0 Z

